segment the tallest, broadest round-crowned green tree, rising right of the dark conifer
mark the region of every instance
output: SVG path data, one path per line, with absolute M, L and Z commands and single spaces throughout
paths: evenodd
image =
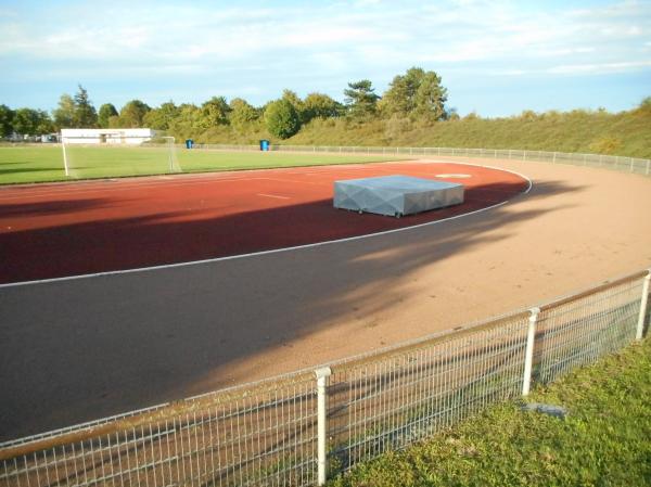
M 435 72 L 412 67 L 404 76 L 393 79 L 379 106 L 387 117 L 441 120 L 446 117 L 446 101 L 447 90 L 441 85 L 441 77 Z

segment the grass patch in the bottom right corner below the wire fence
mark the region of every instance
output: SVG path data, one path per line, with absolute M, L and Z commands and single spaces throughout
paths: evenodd
M 565 420 L 500 405 L 337 487 L 651 485 L 651 339 L 534 392 Z

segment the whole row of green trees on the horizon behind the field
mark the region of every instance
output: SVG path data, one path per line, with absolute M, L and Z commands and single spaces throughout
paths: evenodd
M 13 133 L 37 136 L 62 128 L 136 128 L 148 127 L 166 131 L 178 138 L 196 137 L 215 127 L 230 127 L 238 133 L 266 129 L 278 139 L 295 134 L 315 118 L 347 118 L 368 121 L 381 118 L 411 118 L 437 121 L 455 116 L 447 111 L 447 89 L 441 76 L 420 67 L 407 69 L 393 78 L 387 90 L 379 95 L 368 79 L 348 82 L 341 103 L 328 94 L 312 92 L 304 99 L 294 91 L 263 106 L 253 106 L 242 98 L 227 101 L 213 97 L 201 105 L 175 104 L 173 101 L 151 107 L 141 100 L 127 102 L 119 111 L 112 103 L 99 110 L 89 99 L 88 91 L 78 86 L 74 94 L 64 93 L 52 113 L 42 110 L 11 110 L 0 105 L 2 137 Z

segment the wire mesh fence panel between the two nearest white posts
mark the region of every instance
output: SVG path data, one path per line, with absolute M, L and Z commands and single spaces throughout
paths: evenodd
M 522 387 L 527 315 L 334 369 L 331 470 L 450 426 Z

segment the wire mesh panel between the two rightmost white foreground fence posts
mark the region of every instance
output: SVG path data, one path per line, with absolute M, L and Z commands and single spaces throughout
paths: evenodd
M 638 277 L 544 307 L 537 323 L 534 380 L 549 383 L 630 343 L 641 294 Z

